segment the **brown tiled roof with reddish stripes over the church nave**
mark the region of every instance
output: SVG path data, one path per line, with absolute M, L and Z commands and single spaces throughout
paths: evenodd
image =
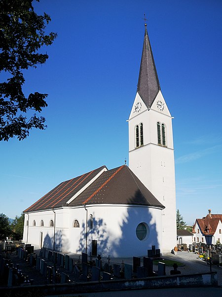
M 106 167 L 102 166 L 59 184 L 24 212 L 51 209 L 64 205 L 105 203 L 139 204 L 164 208 L 126 165 L 104 171 L 84 191 L 79 192 L 104 168 Z M 77 196 L 72 199 L 76 194 Z

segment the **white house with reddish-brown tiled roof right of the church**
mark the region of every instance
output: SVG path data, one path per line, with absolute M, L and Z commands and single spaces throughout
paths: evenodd
M 212 235 L 212 244 L 222 243 L 222 214 L 212 214 L 208 210 L 206 217 L 196 219 L 193 225 L 193 242 L 206 244 L 205 235 Z

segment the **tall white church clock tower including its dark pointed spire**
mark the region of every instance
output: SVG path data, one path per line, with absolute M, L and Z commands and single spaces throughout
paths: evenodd
M 128 122 L 129 168 L 165 206 L 159 246 L 161 252 L 170 252 L 177 242 L 172 116 L 160 90 L 147 24 L 137 94 Z

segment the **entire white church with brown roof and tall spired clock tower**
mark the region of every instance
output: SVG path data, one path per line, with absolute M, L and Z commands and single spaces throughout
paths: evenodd
M 105 165 L 60 183 L 24 210 L 23 241 L 61 252 L 127 257 L 177 243 L 172 116 L 161 93 L 147 24 L 128 119 L 129 167 Z

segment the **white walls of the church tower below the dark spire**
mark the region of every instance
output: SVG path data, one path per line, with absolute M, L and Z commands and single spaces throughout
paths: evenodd
M 163 110 L 157 108 L 159 101 Z M 165 146 L 158 144 L 157 122 L 165 126 Z M 137 148 L 135 127 L 140 123 L 143 123 L 144 143 Z M 149 109 L 139 93 L 136 95 L 129 117 L 129 168 L 165 206 L 161 247 L 163 252 L 170 252 L 177 242 L 174 147 L 172 117 L 161 91 Z

